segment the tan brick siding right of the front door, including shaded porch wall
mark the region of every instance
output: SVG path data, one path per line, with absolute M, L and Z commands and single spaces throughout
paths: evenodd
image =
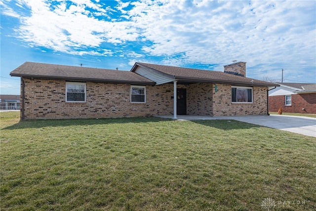
M 253 87 L 253 103 L 232 103 L 232 86 L 229 84 L 179 84 L 177 87 L 187 89 L 188 115 L 267 115 L 268 87 Z

